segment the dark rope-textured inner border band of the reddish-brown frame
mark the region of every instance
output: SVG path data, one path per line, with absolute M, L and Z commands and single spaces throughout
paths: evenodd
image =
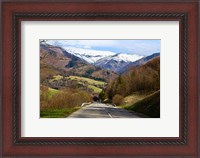
M 77 144 L 77 145 L 133 145 L 133 144 L 186 144 L 187 142 L 187 14 L 185 13 L 13 13 L 13 135 L 14 142 L 16 144 Z M 20 128 L 20 22 L 23 19 L 29 20 L 90 20 L 95 18 L 96 20 L 157 20 L 158 19 L 167 19 L 167 20 L 178 20 L 180 21 L 180 34 L 182 35 L 181 43 L 181 54 L 180 59 L 181 70 L 180 77 L 182 78 L 181 88 L 181 100 L 180 102 L 180 137 L 177 139 L 172 138 L 155 138 L 154 140 L 148 138 L 118 138 L 118 139 L 106 139 L 106 138 L 62 138 L 59 139 L 38 139 L 27 140 L 20 137 L 21 128 Z M 87 142 L 87 143 L 86 143 Z

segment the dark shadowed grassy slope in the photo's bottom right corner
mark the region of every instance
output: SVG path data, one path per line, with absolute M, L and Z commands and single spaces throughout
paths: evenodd
M 160 90 L 148 95 L 131 106 L 125 107 L 130 111 L 143 113 L 153 118 L 160 117 Z

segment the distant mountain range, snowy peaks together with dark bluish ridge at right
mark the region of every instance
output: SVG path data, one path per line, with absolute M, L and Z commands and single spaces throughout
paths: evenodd
M 46 41 L 45 44 L 61 48 L 65 54 L 68 54 L 68 56 L 71 54 L 71 57 L 74 58 L 73 60 L 79 58 L 84 63 L 111 70 L 118 74 L 127 71 L 129 67 L 143 65 L 149 60 L 152 60 L 160 55 L 160 53 L 154 53 L 150 56 L 141 56 L 137 54 L 125 54 L 111 51 L 76 48 L 67 46 L 65 43 L 57 41 L 51 41 L 49 43 Z

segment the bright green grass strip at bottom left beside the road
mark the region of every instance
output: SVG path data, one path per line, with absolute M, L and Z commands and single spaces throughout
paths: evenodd
M 46 109 L 40 111 L 41 118 L 65 118 L 73 112 L 80 109 L 80 107 L 67 108 L 67 109 Z

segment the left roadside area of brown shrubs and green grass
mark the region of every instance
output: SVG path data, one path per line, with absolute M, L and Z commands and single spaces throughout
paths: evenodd
M 65 118 L 91 101 L 90 95 L 81 90 L 56 90 L 42 86 L 40 90 L 40 118 Z

